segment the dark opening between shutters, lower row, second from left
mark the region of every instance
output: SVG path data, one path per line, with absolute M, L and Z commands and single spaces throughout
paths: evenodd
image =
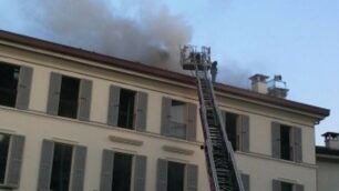
M 50 189 L 69 190 L 72 165 L 72 145 L 55 143 Z

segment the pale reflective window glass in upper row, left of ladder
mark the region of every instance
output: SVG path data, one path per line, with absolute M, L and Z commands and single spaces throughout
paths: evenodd
M 172 100 L 170 134 L 174 138 L 186 139 L 187 105 L 185 102 Z

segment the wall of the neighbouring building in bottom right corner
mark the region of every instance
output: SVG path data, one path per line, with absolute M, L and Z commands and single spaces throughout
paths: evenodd
M 335 191 L 339 188 L 339 159 L 317 159 L 318 191 Z

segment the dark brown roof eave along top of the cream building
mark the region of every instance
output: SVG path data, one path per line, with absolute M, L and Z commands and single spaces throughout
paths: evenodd
M 78 49 L 78 48 L 73 48 L 69 46 L 49 42 L 45 40 L 32 38 L 32 37 L 27 37 L 22 34 L 17 34 L 17 33 L 0 30 L 0 40 L 18 43 L 22 46 L 28 46 L 28 47 L 35 48 L 35 49 L 42 49 L 42 50 L 51 51 L 54 53 L 61 53 L 61 54 L 65 54 L 70 57 L 95 61 L 101 64 L 121 68 L 125 70 L 131 70 L 135 72 L 141 72 L 144 74 L 168 79 L 168 80 L 182 82 L 185 84 L 195 86 L 195 78 L 189 77 L 189 76 L 160 69 L 160 68 L 147 66 L 147 64 L 142 64 L 140 62 L 133 62 L 133 61 L 123 60 L 123 59 L 119 59 L 119 58 L 114 58 L 114 57 L 110 57 L 110 56 L 105 56 L 105 54 L 101 54 L 96 52 L 86 51 L 83 49 Z M 233 96 L 237 96 L 240 98 L 251 99 L 251 100 L 260 101 L 264 103 L 270 103 L 270 104 L 278 105 L 278 107 L 284 107 L 284 108 L 288 108 L 288 109 L 292 109 L 297 111 L 316 114 L 320 117 L 319 120 L 323 119 L 325 117 L 328 117 L 330 112 L 328 109 L 304 104 L 300 102 L 295 102 L 295 101 L 290 101 L 286 99 L 271 97 L 271 96 L 266 96 L 266 94 L 257 93 L 250 90 L 236 88 L 236 87 L 222 84 L 222 83 L 215 83 L 215 90 L 220 93 L 233 94 Z

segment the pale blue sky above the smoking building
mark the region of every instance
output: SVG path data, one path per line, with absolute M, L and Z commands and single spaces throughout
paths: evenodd
M 101 1 L 110 4 L 110 9 L 101 7 Z M 1 0 L 0 29 L 66 43 L 66 40 L 55 38 L 51 28 L 47 27 L 51 20 L 41 19 L 51 18 L 51 14 L 63 16 L 64 12 L 58 9 L 54 12 L 42 11 L 38 9 L 41 2 Z M 97 10 L 114 12 L 115 20 L 127 18 L 129 23 L 138 26 L 137 32 L 145 23 L 154 29 L 151 32 L 171 33 L 173 29 L 174 34 L 185 34 L 179 39 L 184 42 L 210 47 L 213 60 L 218 61 L 218 81 L 249 88 L 247 79 L 251 74 L 281 74 L 289 89 L 287 99 L 330 109 L 330 117 L 316 125 L 317 144 L 323 144 L 323 132 L 339 132 L 339 1 L 97 0 L 95 3 L 99 4 Z M 102 13 L 105 11 L 95 12 Z M 166 22 L 157 22 L 157 18 Z M 156 24 L 152 26 L 152 22 Z M 147 32 L 150 29 L 143 29 L 142 37 L 164 38 L 154 33 L 146 36 Z M 82 47 L 82 40 L 73 44 Z M 173 42 L 171 38 L 161 42 L 164 47 L 173 46 L 167 41 Z

